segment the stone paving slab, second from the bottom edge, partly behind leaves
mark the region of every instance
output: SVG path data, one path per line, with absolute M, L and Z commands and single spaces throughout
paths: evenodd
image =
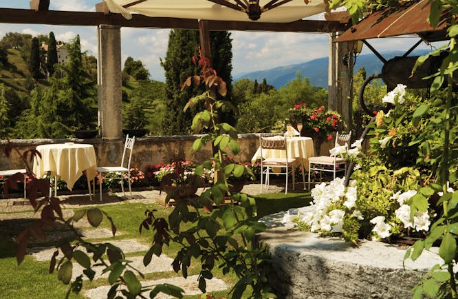
M 126 258 L 127 260 L 130 260 L 132 267 L 140 271 L 142 274 L 147 274 L 147 273 L 153 273 L 153 272 L 166 272 L 166 271 L 173 271 L 172 262 L 173 258 L 169 258 L 168 256 L 162 254 L 160 257 L 153 256 L 151 258 L 151 262 L 149 263 L 148 266 L 143 265 L 143 257 L 142 256 L 133 256 L 133 257 L 128 257 Z M 78 263 L 73 263 L 73 272 L 72 272 L 72 280 L 74 280 L 76 277 L 80 276 L 83 274 L 83 266 L 81 266 Z M 109 272 L 102 274 L 102 266 L 98 267 L 92 267 L 94 271 L 96 271 L 96 276 L 94 276 L 94 279 L 98 278 L 108 278 Z M 127 268 L 129 269 L 129 268 Z M 134 273 L 136 273 L 134 271 Z M 87 276 L 83 274 L 83 280 L 89 280 Z

